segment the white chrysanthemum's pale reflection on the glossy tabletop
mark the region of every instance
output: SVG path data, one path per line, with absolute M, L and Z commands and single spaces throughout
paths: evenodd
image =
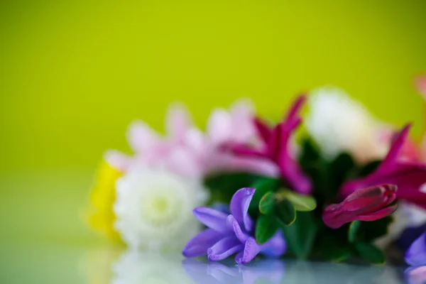
M 182 257 L 177 255 L 126 251 L 112 266 L 111 284 L 188 283 L 181 261 Z

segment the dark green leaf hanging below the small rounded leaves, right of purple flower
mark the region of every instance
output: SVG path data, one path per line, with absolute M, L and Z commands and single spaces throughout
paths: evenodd
M 306 259 L 312 251 L 318 231 L 313 212 L 299 212 L 293 224 L 281 228 L 290 251 L 297 258 Z

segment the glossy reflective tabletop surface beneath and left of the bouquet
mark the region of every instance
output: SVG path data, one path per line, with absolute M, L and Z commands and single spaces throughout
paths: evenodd
M 403 283 L 403 268 L 131 253 L 84 224 L 92 170 L 0 175 L 0 283 Z M 421 282 L 420 282 L 421 283 Z

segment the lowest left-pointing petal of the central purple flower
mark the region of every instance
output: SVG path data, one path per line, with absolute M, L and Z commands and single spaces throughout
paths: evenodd
M 223 236 L 222 232 L 205 229 L 188 241 L 182 249 L 182 254 L 188 258 L 206 256 L 207 250 L 222 239 Z

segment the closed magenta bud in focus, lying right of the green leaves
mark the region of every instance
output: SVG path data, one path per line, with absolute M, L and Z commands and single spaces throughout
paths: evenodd
M 339 204 L 325 207 L 322 213 L 324 224 L 337 229 L 343 224 L 361 220 L 375 221 L 395 212 L 397 205 L 391 205 L 396 198 L 395 185 L 381 185 L 356 190 Z

